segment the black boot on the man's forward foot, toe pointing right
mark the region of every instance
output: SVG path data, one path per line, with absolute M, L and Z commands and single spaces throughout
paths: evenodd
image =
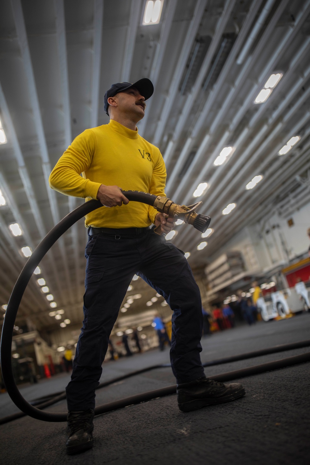
M 177 385 L 178 408 L 182 412 L 230 402 L 244 394 L 244 387 L 239 383 L 224 384 L 209 378 L 198 378 L 190 383 Z

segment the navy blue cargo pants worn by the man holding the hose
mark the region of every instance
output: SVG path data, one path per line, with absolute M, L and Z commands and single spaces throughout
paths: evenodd
M 200 292 L 184 253 L 153 229 L 111 231 L 89 236 L 85 249 L 84 320 L 66 387 L 68 410 L 95 406 L 109 336 L 134 274 L 161 294 L 173 311 L 170 359 L 177 383 L 204 376 L 199 355 Z

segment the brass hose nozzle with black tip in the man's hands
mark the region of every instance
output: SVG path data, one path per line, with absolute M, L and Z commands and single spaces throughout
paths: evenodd
M 211 218 L 210 216 L 195 212 L 201 204 L 202 202 L 197 202 L 189 206 L 178 205 L 167 197 L 158 195 L 154 202 L 154 208 L 156 208 L 159 213 L 165 213 L 175 220 L 183 219 L 185 223 L 194 226 L 194 228 L 198 229 L 201 233 L 205 233 L 210 225 Z M 154 229 L 154 233 L 158 235 L 162 234 L 160 225 Z

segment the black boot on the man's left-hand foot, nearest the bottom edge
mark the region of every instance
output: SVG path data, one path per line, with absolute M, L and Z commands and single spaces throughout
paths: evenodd
M 67 454 L 78 454 L 92 448 L 93 417 L 94 411 L 92 409 L 68 412 Z

